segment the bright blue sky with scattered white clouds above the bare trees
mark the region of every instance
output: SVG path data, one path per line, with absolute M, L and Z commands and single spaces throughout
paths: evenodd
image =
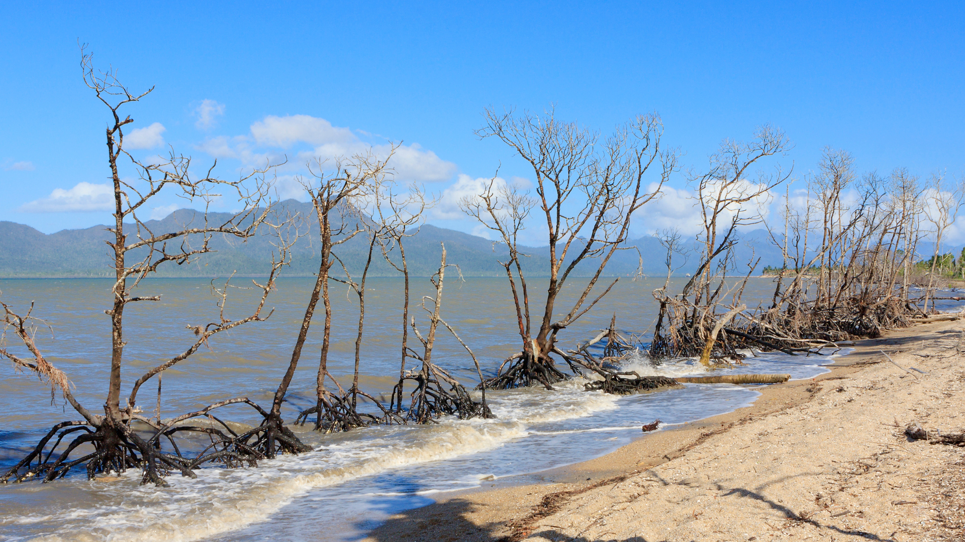
M 52 232 L 109 219 L 84 203 L 108 174 L 107 111 L 81 81 L 78 40 L 132 89 L 155 86 L 127 111 L 146 128 L 140 152 L 163 141 L 198 165 L 219 157 L 226 177 L 253 155 L 300 162 L 332 142 L 391 140 L 435 192 L 500 165 L 526 179 L 473 129 L 486 106 L 550 103 L 604 132 L 658 112 L 664 143 L 695 168 L 770 122 L 794 144 L 782 163 L 796 176 L 824 146 L 852 152 L 860 172 L 965 172 L 959 3 L 198 4 L 0 8 L 0 220 Z M 673 185 L 685 190 L 682 176 Z M 432 221 L 474 228 L 453 208 Z

